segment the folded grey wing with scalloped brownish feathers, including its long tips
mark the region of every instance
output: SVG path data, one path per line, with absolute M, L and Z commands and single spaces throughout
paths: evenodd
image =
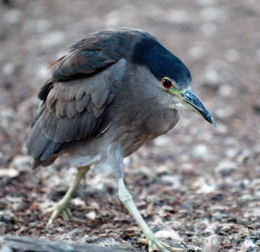
M 46 160 L 70 141 L 99 134 L 116 92 L 109 77 L 104 71 L 93 78 L 55 83 L 29 132 L 29 155 Z

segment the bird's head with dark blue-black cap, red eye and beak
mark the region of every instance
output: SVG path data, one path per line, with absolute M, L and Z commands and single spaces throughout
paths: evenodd
M 132 58 L 153 73 L 163 92 L 174 96 L 172 109 L 190 109 L 216 127 L 211 114 L 191 91 L 191 73 L 185 64 L 153 38 L 143 38 L 135 45 Z

